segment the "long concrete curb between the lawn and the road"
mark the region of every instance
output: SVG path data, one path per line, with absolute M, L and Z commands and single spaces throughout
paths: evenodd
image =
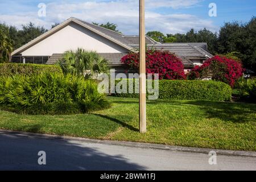
M 151 148 L 151 149 L 155 149 L 155 150 L 168 150 L 168 151 L 175 151 L 175 152 L 192 152 L 192 153 L 199 153 L 199 154 L 209 154 L 210 151 L 215 151 L 217 153 L 217 155 L 243 156 L 243 157 L 256 158 L 256 152 L 252 152 L 252 151 L 218 150 L 218 149 L 210 149 L 210 148 L 168 146 L 168 145 L 164 145 L 164 144 L 119 142 L 119 141 L 111 141 L 111 140 L 87 139 L 87 138 L 79 138 L 79 137 L 65 137 L 65 136 L 59 136 L 59 135 L 27 133 L 27 132 L 22 132 L 22 131 L 9 131 L 9 130 L 0 130 L 0 134 L 15 134 L 18 136 L 29 137 L 29 138 L 36 137 L 36 138 L 44 138 L 44 139 L 71 140 L 71 141 L 76 141 L 76 142 L 100 143 L 100 144 L 110 144 L 110 145 L 116 145 L 116 146 Z

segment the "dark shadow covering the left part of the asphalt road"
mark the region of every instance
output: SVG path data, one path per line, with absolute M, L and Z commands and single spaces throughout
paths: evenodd
M 108 151 L 99 144 L 24 137 L 19 133 L 0 131 L 0 148 L 0 155 L 4 156 L 0 170 L 146 170 L 118 150 Z M 39 151 L 46 152 L 46 165 L 38 164 Z

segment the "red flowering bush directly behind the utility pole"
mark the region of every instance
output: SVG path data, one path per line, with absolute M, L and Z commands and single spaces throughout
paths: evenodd
M 139 53 L 129 53 L 123 56 L 121 62 L 130 69 L 139 68 Z M 184 80 L 184 66 L 182 61 L 169 51 L 148 49 L 146 51 L 146 73 L 158 73 L 159 79 Z

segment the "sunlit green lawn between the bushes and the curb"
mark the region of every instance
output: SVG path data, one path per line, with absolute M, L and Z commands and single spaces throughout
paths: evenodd
M 110 109 L 77 115 L 0 110 L 0 128 L 75 137 L 256 151 L 256 104 L 148 101 L 147 133 L 138 132 L 138 99 L 108 97 Z

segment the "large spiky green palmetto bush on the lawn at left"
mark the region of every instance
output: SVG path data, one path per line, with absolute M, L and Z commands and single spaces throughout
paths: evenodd
M 62 73 L 1 77 L 0 86 L 0 104 L 19 113 L 86 113 L 109 106 L 96 82 Z

